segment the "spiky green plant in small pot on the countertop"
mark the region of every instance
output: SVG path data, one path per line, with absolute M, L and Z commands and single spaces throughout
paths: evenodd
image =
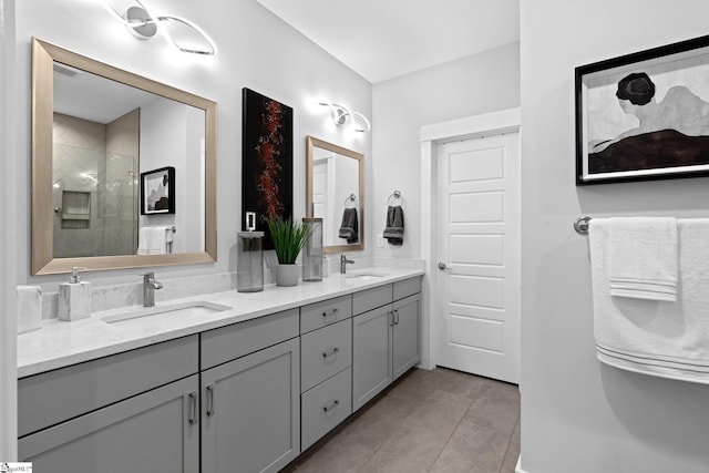
M 298 285 L 298 266 L 296 259 L 310 236 L 310 225 L 278 216 L 268 219 L 268 229 L 278 258 L 276 285 Z

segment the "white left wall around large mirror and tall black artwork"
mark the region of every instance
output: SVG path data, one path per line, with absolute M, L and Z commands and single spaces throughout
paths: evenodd
M 294 107 L 294 214 L 305 216 L 305 137 L 314 135 L 371 156 L 371 134 L 336 128 L 318 100 L 345 103 L 371 116 L 371 84 L 336 61 L 255 1 L 152 0 L 156 14 L 185 17 L 215 40 L 216 56 L 174 50 L 161 38 L 134 39 L 102 1 L 23 0 L 17 6 L 18 152 L 13 175 L 18 191 L 18 282 L 56 291 L 64 276 L 30 277 L 30 81 L 31 37 L 137 72 L 218 103 L 217 227 L 218 261 L 156 268 L 161 280 L 236 270 L 240 218 L 242 89 L 247 86 Z M 371 164 L 368 164 L 371 166 Z M 369 171 L 371 175 L 371 171 Z M 366 251 L 367 253 L 367 251 Z M 135 270 L 84 276 L 94 286 L 137 282 Z

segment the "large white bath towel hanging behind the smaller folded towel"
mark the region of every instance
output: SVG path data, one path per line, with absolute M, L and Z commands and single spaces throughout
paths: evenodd
M 612 224 L 589 224 L 594 337 L 609 366 L 709 384 L 709 219 L 678 219 L 677 302 L 613 297 Z

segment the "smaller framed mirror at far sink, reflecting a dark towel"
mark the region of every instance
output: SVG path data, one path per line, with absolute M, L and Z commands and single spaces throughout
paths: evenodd
M 306 138 L 306 214 L 322 218 L 326 251 L 364 249 L 364 155 Z

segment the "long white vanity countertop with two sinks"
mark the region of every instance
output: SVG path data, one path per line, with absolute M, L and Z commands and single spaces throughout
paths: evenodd
M 18 336 L 18 377 L 23 378 L 229 323 L 243 322 L 256 317 L 421 276 L 423 273 L 420 269 L 373 267 L 351 271 L 347 276 L 377 274 L 382 277 L 345 278 L 342 275 L 332 275 L 318 282 L 300 281 L 295 287 L 266 286 L 259 292 L 229 290 L 166 302 L 160 301 L 160 291 L 155 294 L 156 306 L 174 306 L 186 301 L 205 300 L 232 307 L 229 310 L 202 315 L 198 318 L 183 315 L 160 315 L 120 323 L 107 323 L 102 320 L 104 317 L 115 313 L 143 310 L 142 306 L 132 306 L 94 312 L 90 318 L 71 322 L 58 319 L 44 320 L 41 330 Z M 168 284 L 169 281 L 165 281 L 165 285 Z

